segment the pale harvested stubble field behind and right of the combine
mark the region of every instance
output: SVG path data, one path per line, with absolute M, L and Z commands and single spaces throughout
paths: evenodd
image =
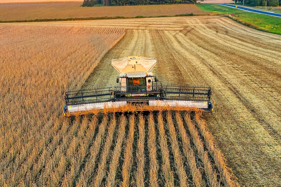
M 27 24 L 126 28 L 126 36 L 106 53 L 83 88 L 115 84 L 118 72 L 111 67 L 111 59 L 127 55 L 156 57 L 158 64 L 153 73 L 161 82 L 211 86 L 216 105 L 214 113 L 204 114 L 206 126 L 239 184 L 281 185 L 281 36 L 226 17 Z M 153 136 L 150 143 L 154 144 Z M 174 149 L 176 154 L 177 145 Z M 180 161 L 175 162 L 181 170 Z

